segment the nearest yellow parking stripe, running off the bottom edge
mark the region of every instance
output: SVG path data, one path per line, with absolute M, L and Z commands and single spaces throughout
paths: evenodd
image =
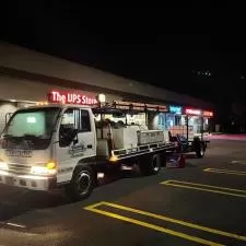
M 106 216 L 110 216 L 110 218 L 114 218 L 114 219 L 117 219 L 117 220 L 121 220 L 121 221 L 125 221 L 125 222 L 137 224 L 137 225 L 143 226 L 143 227 L 152 229 L 154 231 L 159 231 L 159 232 L 166 233 L 166 234 L 169 234 L 169 235 L 173 235 L 173 236 L 177 236 L 177 237 L 180 237 L 180 238 L 184 238 L 184 239 L 187 239 L 187 241 L 200 243 L 200 244 L 203 244 L 203 245 L 225 246 L 223 244 L 218 244 L 218 243 L 214 243 L 214 242 L 211 242 L 211 241 L 206 241 L 206 239 L 202 239 L 200 237 L 190 236 L 190 235 L 185 234 L 185 233 L 175 232 L 175 231 L 169 230 L 169 229 L 164 229 L 162 226 L 150 224 L 150 223 L 139 221 L 139 220 L 136 220 L 136 219 L 131 219 L 131 218 L 128 218 L 128 216 L 122 216 L 122 215 L 119 215 L 119 214 L 116 214 L 116 213 L 106 212 L 106 211 L 103 211 L 103 210 L 99 210 L 99 209 L 95 209 L 93 207 L 91 208 L 90 206 L 84 208 L 84 209 L 89 210 L 89 211 L 92 211 L 92 212 L 95 212 L 95 213 L 106 215 Z

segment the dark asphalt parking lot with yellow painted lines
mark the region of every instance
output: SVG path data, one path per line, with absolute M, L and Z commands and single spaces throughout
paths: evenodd
M 185 168 L 114 177 L 75 203 L 0 186 L 0 246 L 246 245 L 245 148 L 213 139 Z

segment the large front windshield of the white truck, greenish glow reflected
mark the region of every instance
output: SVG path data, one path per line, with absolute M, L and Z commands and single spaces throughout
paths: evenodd
M 59 107 L 17 110 L 2 132 L 2 139 L 7 140 L 4 141 L 5 148 L 21 148 L 24 140 L 30 140 L 28 145 L 32 144 L 32 149 L 46 149 L 52 136 L 59 112 Z

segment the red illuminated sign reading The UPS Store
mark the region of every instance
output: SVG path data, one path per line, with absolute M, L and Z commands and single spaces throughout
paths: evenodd
M 58 92 L 58 91 L 51 91 L 48 94 L 48 101 L 50 103 L 82 104 L 82 105 L 83 104 L 93 105 L 97 103 L 96 98 L 93 96 L 80 93 Z

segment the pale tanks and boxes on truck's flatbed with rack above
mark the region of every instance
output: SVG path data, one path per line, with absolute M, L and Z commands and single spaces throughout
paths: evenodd
M 95 115 L 101 116 L 97 125 L 97 138 L 99 136 L 101 139 L 104 139 L 106 136 L 109 142 L 109 152 L 114 160 L 122 159 L 122 153 L 128 155 L 147 152 L 148 150 L 152 151 L 153 148 L 154 150 L 161 150 L 164 145 L 174 147 L 173 143 L 165 143 L 162 130 L 148 130 L 141 129 L 141 126 L 127 125 L 127 115 L 144 113 L 145 119 L 148 119 L 149 113 L 167 112 L 165 106 L 114 101 L 112 105 L 101 104 L 99 107 L 94 107 L 92 110 Z M 109 114 L 120 115 L 121 118 L 125 118 L 126 124 L 116 125 L 114 122 L 113 126 L 113 122 L 110 124 L 108 119 L 104 120 L 103 118 L 103 115 Z

